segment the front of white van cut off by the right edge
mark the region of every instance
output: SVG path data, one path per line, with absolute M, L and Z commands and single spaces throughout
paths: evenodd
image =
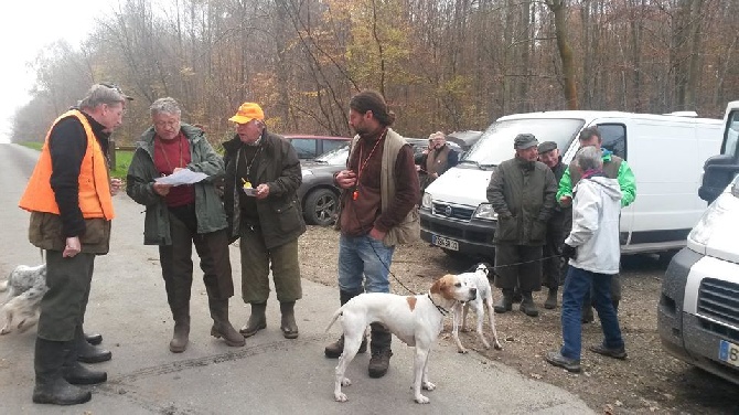
M 663 349 L 739 384 L 739 177 L 693 228 L 662 281 Z

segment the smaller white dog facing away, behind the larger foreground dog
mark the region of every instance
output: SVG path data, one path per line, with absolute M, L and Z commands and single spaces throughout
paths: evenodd
M 480 341 L 485 347 L 490 349 L 490 343 L 485 339 L 485 336 L 482 332 L 482 326 L 485 321 L 485 310 L 488 310 L 488 316 L 490 318 L 490 329 L 493 333 L 493 347 L 495 350 L 503 350 L 501 342 L 497 341 L 497 331 L 495 331 L 495 313 L 493 312 L 493 289 L 490 287 L 490 281 L 488 280 L 489 273 L 488 265 L 484 263 L 478 264 L 474 273 L 464 273 L 460 274 L 459 277 L 465 279 L 472 287 L 478 289 L 478 296 L 472 301 L 467 302 L 457 302 L 453 307 L 454 311 L 454 326 L 452 327 L 451 336 L 457 342 L 457 351 L 459 353 L 467 353 L 467 349 L 462 345 L 462 342 L 459 340 L 459 327 L 460 322 L 462 326 L 462 332 L 467 330 L 467 312 L 470 309 L 470 306 L 474 309 L 474 313 L 478 318 L 478 337 Z

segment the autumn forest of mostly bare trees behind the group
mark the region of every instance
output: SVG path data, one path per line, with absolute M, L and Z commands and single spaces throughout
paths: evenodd
M 218 143 L 243 102 L 279 134 L 349 136 L 373 88 L 407 137 L 554 109 L 720 117 L 739 97 L 736 0 L 121 0 L 82 44 L 31 64 L 12 140 L 43 141 L 93 83 L 135 98 L 118 145 L 171 96 Z

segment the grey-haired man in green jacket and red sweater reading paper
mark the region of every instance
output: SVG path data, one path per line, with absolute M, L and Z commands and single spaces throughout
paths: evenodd
M 151 104 L 153 126 L 143 132 L 128 168 L 126 192 L 147 206 L 143 243 L 159 245 L 167 300 L 174 320 L 170 351 L 185 351 L 190 337 L 192 246 L 203 269 L 203 283 L 213 318 L 211 336 L 231 347 L 245 344 L 228 320 L 234 295 L 228 256 L 226 214 L 212 178 L 223 174 L 223 160 L 202 129 L 180 121 L 180 105 L 172 98 Z M 194 184 L 173 185 L 157 179 L 181 170 L 205 173 Z

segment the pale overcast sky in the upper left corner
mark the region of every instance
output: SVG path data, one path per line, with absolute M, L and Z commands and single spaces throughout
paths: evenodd
M 92 31 L 95 18 L 117 0 L 10 0 L 0 12 L 0 142 L 9 142 L 10 118 L 30 98 L 35 74 L 26 63 L 45 46 L 65 39 L 73 47 Z

